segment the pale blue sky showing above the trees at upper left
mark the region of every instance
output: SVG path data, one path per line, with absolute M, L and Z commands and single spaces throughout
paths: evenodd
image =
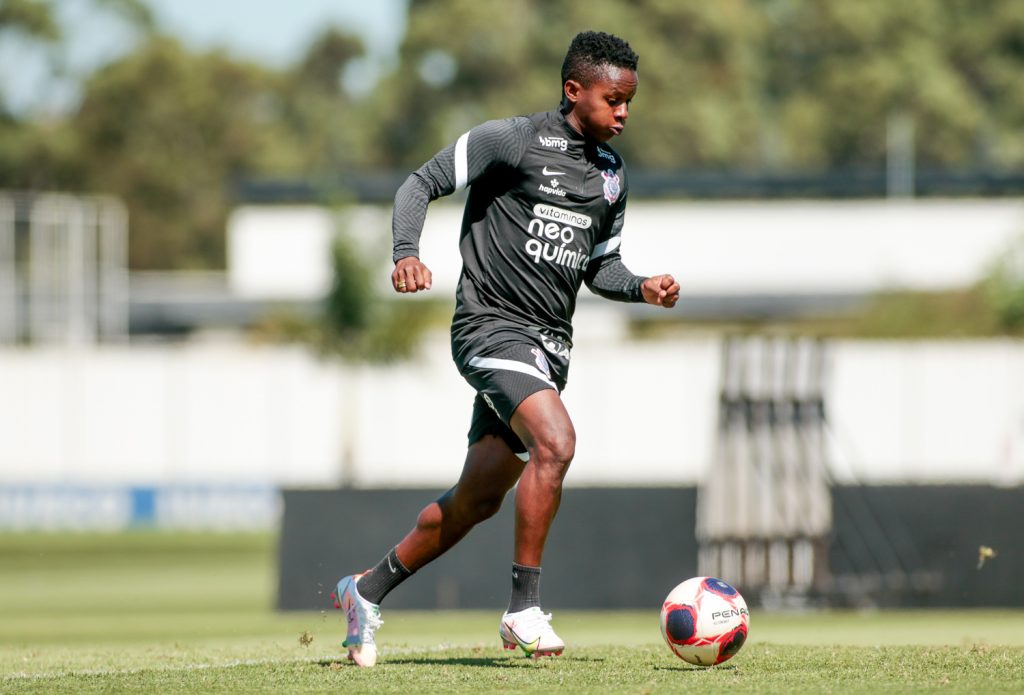
M 158 27 L 196 49 L 282 68 L 297 60 L 326 27 L 359 35 L 369 56 L 348 86 L 366 90 L 395 59 L 406 31 L 407 0 L 146 0 Z M 0 89 L 15 112 L 60 112 L 77 98 L 77 80 L 130 50 L 132 34 L 96 0 L 57 5 L 66 36 L 59 54 L 0 35 Z M 54 66 L 67 79 L 54 77 Z

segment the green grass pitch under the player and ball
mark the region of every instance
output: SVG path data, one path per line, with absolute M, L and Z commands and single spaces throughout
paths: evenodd
M 568 648 L 535 661 L 501 649 L 502 606 L 417 613 L 385 605 L 381 663 L 362 670 L 342 658 L 339 613 L 271 610 L 273 542 L 0 535 L 0 693 L 1024 691 L 1024 611 L 1009 610 L 755 608 L 742 651 L 703 669 L 662 643 L 656 606 L 549 606 Z

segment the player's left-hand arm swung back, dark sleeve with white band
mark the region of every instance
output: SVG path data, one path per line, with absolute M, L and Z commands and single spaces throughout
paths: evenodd
M 430 269 L 420 261 L 420 234 L 427 206 L 465 188 L 500 166 L 515 167 L 522 159 L 534 126 L 527 119 L 488 121 L 463 135 L 413 172 L 394 197 L 391 234 L 396 292 L 430 289 Z

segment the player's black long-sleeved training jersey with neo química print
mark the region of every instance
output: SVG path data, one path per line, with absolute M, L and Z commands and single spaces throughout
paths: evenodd
M 467 185 L 453 338 L 504 324 L 570 341 L 584 281 L 609 299 L 643 301 L 644 278 L 620 257 L 623 160 L 560 112 L 484 123 L 410 176 L 395 197 L 395 262 L 418 256 L 427 203 Z

